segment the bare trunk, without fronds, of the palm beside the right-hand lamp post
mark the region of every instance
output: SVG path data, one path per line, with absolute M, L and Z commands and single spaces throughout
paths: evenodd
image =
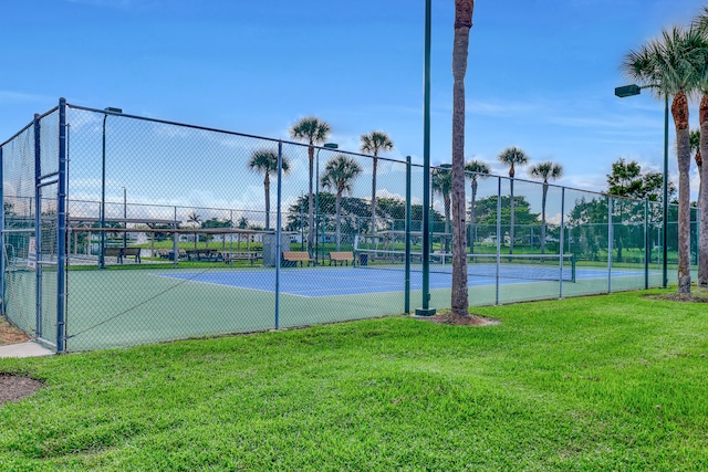
M 688 101 L 684 92 L 674 96 L 671 115 L 678 158 L 678 292 L 690 293 L 690 136 Z

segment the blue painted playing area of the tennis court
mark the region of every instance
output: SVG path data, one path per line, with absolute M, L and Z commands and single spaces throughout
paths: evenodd
M 176 272 L 162 273 L 159 276 L 204 283 L 220 286 L 230 286 L 262 292 L 275 292 L 275 271 L 207 271 L 207 272 Z M 577 280 L 603 279 L 607 276 L 607 270 L 579 269 L 575 274 Z M 643 276 L 641 271 L 613 271 L 616 276 Z M 494 285 L 494 276 L 468 277 L 469 286 Z M 500 277 L 499 283 L 519 284 L 548 281 L 533 281 L 529 279 Z M 430 290 L 449 289 L 452 275 L 449 273 L 430 272 Z M 570 283 L 570 282 L 564 282 Z M 410 290 L 423 289 L 423 273 L 410 272 Z M 280 292 L 295 296 L 320 297 L 336 295 L 355 295 L 366 293 L 403 292 L 405 290 L 404 272 L 386 269 L 357 269 L 357 268 L 303 268 L 285 269 L 280 271 Z

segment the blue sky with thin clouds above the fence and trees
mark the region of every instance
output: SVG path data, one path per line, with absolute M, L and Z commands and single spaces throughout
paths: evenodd
M 663 102 L 646 93 L 615 97 L 614 87 L 628 82 L 620 64 L 702 4 L 479 0 L 466 82 L 467 159 L 506 175 L 497 155 L 518 146 L 532 164 L 562 164 L 560 183 L 590 190 L 605 188 L 621 157 L 660 170 Z M 452 21 L 454 1 L 433 0 L 433 164 L 450 159 Z M 6 0 L 0 141 L 64 96 L 282 138 L 315 115 L 342 149 L 358 150 L 361 134 L 383 129 L 396 144 L 389 156 L 420 161 L 423 22 L 423 0 Z M 697 115 L 694 103 L 693 127 Z

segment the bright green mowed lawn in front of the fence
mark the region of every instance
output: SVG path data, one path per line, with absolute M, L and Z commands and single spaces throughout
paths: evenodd
M 708 305 L 648 293 L 0 359 L 0 470 L 708 470 Z

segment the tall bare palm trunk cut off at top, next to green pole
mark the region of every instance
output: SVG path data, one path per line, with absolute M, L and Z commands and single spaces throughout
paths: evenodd
M 465 232 L 465 75 L 475 0 L 455 0 L 452 40 L 452 314 L 468 316 L 467 238 Z

